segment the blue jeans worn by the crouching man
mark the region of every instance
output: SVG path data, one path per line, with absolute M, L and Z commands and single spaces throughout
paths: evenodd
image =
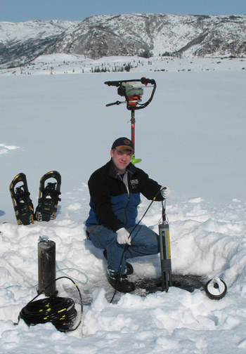
M 131 233 L 134 226 L 127 228 Z M 99 249 L 106 249 L 108 255 L 108 270 L 110 275 L 126 272 L 126 259 L 138 256 L 148 256 L 160 252 L 160 237 L 145 225 L 138 225 L 131 234 L 131 246 L 118 244 L 117 233 L 103 225 L 96 225 L 89 234 L 92 244 Z M 122 258 L 122 254 L 124 256 Z M 120 262 L 122 266 L 119 269 Z

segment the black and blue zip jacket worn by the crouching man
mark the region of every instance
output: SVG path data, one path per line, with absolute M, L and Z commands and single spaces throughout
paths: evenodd
M 147 173 L 133 164 L 129 164 L 127 172 L 129 192 L 112 160 L 92 173 L 88 182 L 91 210 L 86 220 L 87 228 L 102 224 L 114 232 L 130 228 L 136 225 L 140 193 L 150 200 L 154 197 L 157 201 L 163 200 L 160 193 L 157 195 L 161 185 L 150 179 Z

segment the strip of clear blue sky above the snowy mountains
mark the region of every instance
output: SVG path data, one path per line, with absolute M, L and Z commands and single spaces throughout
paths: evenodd
M 242 15 L 246 0 L 0 0 L 0 21 L 82 21 L 122 13 Z

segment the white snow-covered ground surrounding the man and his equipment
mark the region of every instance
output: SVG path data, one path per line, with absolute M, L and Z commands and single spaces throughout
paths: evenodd
M 47 58 L 47 67 L 48 60 L 58 63 L 58 57 Z M 1 353 L 245 353 L 246 73 L 241 60 L 160 58 L 151 65 L 143 60 L 131 72 L 86 74 L 88 65 L 77 75 L 74 63 L 66 65 L 71 74 L 62 75 L 63 67 L 56 75 L 59 66 L 53 65 L 50 75 L 36 60 L 32 75 L 5 70 L 0 81 Z M 129 58 L 118 61 L 127 64 Z M 98 60 L 99 65 L 109 62 Z M 167 72 L 155 71 L 161 69 Z M 173 272 L 221 277 L 228 294 L 220 301 L 199 289 L 171 287 L 148 296 L 117 294 L 118 301 L 110 303 L 113 291 L 102 251 L 86 240 L 89 176 L 110 159 L 112 141 L 131 133 L 126 107 L 105 107 L 120 98 L 104 81 L 141 77 L 155 79 L 157 90 L 153 102 L 136 111 L 136 157 L 143 159 L 140 168 L 172 190 L 167 216 Z M 143 100 L 149 93 L 145 89 Z M 52 170 L 62 176 L 56 221 L 18 226 L 11 180 L 26 174 L 36 206 L 39 180 Z M 143 198 L 139 217 L 148 204 Z M 155 203 L 143 223 L 157 232 L 160 216 L 161 205 Z M 15 325 L 37 294 L 42 235 L 56 242 L 58 267 L 75 269 L 65 273 L 76 279 L 87 303 L 75 332 L 61 333 L 51 324 L 27 327 L 22 320 Z M 133 280 L 160 275 L 159 256 L 132 264 Z M 79 301 L 72 282 L 59 280 L 56 287 L 60 296 Z

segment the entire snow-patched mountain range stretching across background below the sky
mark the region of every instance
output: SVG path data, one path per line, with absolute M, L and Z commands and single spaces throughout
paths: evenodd
M 82 22 L 0 22 L 0 65 L 18 66 L 41 54 L 98 59 L 112 55 L 240 57 L 246 15 L 96 15 Z

